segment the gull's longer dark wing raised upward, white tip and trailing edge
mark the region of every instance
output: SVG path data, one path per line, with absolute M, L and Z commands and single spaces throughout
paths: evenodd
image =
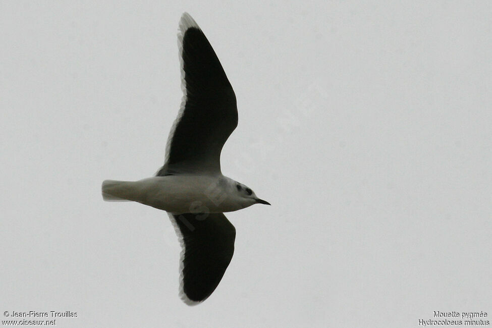
M 238 125 L 236 95 L 205 34 L 187 13 L 178 42 L 183 99 L 157 176 L 220 173 L 222 147 Z

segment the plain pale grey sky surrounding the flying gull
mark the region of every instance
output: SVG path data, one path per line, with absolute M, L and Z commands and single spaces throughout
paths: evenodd
M 100 194 L 162 165 L 184 11 L 238 99 L 223 173 L 272 204 L 227 215 L 235 255 L 195 307 L 167 214 Z M 0 2 L 0 312 L 78 313 L 61 327 L 491 320 L 491 29 L 488 1 Z

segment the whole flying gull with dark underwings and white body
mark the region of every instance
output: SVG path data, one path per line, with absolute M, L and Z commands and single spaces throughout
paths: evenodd
M 164 165 L 139 181 L 102 182 L 105 201 L 135 201 L 168 212 L 180 240 L 180 298 L 196 305 L 220 283 L 236 229 L 224 212 L 266 204 L 222 174 L 221 152 L 238 125 L 236 95 L 212 46 L 184 13 L 178 32 L 183 98 Z

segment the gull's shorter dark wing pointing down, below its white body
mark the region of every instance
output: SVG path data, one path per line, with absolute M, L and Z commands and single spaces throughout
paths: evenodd
M 223 213 L 171 214 L 180 237 L 180 297 L 188 305 L 204 301 L 220 283 L 234 254 L 236 229 Z

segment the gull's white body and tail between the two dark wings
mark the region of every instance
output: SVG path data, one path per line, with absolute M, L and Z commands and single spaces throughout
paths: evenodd
M 136 201 L 173 214 L 223 213 L 255 203 L 240 197 L 234 180 L 223 175 L 171 175 L 139 181 L 105 180 L 102 196 L 107 201 Z

